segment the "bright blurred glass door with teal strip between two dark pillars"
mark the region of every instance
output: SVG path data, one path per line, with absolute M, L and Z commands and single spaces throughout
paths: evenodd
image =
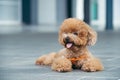
M 91 26 L 96 30 L 104 30 L 106 24 L 106 0 L 91 0 Z

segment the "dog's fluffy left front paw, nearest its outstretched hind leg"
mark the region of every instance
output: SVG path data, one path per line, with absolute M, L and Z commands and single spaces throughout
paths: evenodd
M 69 72 L 72 70 L 72 64 L 68 59 L 61 57 L 54 60 L 51 68 L 58 72 Z

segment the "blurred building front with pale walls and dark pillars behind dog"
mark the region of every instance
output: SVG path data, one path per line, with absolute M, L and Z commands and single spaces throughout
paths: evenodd
M 57 32 L 76 17 L 97 31 L 120 30 L 120 0 L 0 0 L 0 33 Z

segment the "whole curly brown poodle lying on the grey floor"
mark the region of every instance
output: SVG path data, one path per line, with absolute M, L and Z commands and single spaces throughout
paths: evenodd
M 96 32 L 85 22 L 68 18 L 64 20 L 59 31 L 59 42 L 65 47 L 59 52 L 43 55 L 36 60 L 38 65 L 51 65 L 52 70 L 59 72 L 71 71 L 73 68 L 87 72 L 103 70 L 102 63 L 87 49 L 97 40 Z M 80 57 L 84 56 L 80 59 Z M 79 58 L 74 61 L 71 58 Z

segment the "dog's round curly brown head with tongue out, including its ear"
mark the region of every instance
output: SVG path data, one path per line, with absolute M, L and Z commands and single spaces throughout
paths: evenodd
M 68 18 L 60 27 L 59 42 L 68 49 L 94 45 L 96 40 L 96 32 L 79 19 Z

